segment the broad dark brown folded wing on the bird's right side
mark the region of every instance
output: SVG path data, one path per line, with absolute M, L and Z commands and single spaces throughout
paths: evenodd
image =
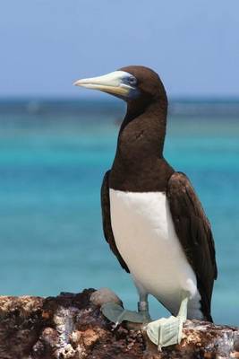
M 168 181 L 167 198 L 175 232 L 197 276 L 201 309 L 205 317 L 211 320 L 211 294 L 218 269 L 209 220 L 184 173 L 175 172 L 171 176 Z

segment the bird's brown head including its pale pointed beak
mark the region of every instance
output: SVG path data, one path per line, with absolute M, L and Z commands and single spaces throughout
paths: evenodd
M 89 89 L 100 90 L 127 102 L 166 101 L 166 91 L 158 74 L 145 66 L 127 66 L 103 76 L 78 80 L 73 83 Z

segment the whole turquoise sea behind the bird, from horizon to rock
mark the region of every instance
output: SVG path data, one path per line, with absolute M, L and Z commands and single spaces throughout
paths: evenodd
M 239 104 L 178 101 L 170 113 L 166 158 L 191 178 L 216 241 L 213 316 L 239 325 Z M 123 115 L 120 101 L 0 102 L 1 294 L 109 286 L 135 308 L 100 215 Z M 153 300 L 151 312 L 166 313 Z

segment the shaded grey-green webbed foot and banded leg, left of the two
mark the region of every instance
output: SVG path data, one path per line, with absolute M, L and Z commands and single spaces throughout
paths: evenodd
M 132 323 L 149 323 L 149 303 L 147 295 L 140 295 L 140 302 L 138 302 L 138 311 L 124 310 L 119 304 L 114 302 L 107 302 L 102 305 L 101 311 L 108 320 L 115 323 L 115 327 L 124 320 Z

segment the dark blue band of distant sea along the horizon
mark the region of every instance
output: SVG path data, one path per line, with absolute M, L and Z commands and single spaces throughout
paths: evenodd
M 92 106 L 91 106 L 92 105 Z M 79 114 L 80 111 L 108 111 L 121 113 L 125 103 L 101 97 L 0 97 L 0 113 Z M 168 114 L 174 116 L 237 117 L 239 98 L 236 97 L 172 97 L 168 99 Z

